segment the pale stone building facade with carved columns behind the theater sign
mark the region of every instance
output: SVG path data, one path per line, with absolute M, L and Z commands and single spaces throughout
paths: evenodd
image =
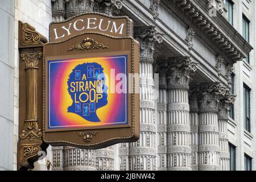
M 0 130 L 10 131 L 0 133 L 0 146 L 13 143 L 0 150 L 0 169 L 16 169 L 18 20 L 48 37 L 51 21 L 89 12 L 126 15 L 134 22 L 134 38 L 141 45 L 140 139 L 100 150 L 49 147 L 35 169 L 47 169 L 47 159 L 52 170 L 229 170 L 234 163 L 236 170 L 243 170 L 247 159 L 256 169 L 254 1 L 5 0 L 0 5 L 0 13 L 10 17 L 9 29 L 1 29 L 1 35 L 10 34 L 5 40 L 10 45 L 0 49 L 0 74 L 11 79 L 0 77 L 5 96 L 0 101 L 14 103 L 8 112 L 0 106 Z M 244 35 L 245 17 L 249 39 Z M 250 90 L 250 131 L 244 124 L 243 85 Z

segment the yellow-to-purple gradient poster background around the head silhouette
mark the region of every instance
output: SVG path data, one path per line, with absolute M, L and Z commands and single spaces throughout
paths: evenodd
M 68 77 L 73 69 L 84 63 L 98 63 L 104 68 L 106 86 L 108 86 L 108 104 L 97 109 L 100 122 L 90 122 L 75 113 L 68 113 L 73 100 L 68 93 Z M 48 60 L 48 129 L 65 129 L 89 126 L 127 125 L 127 93 L 110 93 L 110 69 L 127 76 L 127 55 L 90 57 L 84 59 Z M 115 85 L 119 81 L 115 81 Z M 127 80 L 126 80 L 127 89 Z

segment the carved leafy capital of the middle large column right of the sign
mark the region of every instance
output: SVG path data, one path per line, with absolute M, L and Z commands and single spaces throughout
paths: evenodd
M 168 60 L 168 89 L 188 89 L 191 75 L 197 70 L 190 57 L 174 57 Z

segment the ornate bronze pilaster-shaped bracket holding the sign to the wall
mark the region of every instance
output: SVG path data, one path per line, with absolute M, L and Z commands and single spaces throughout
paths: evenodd
M 19 21 L 19 141 L 18 170 L 34 168 L 39 151 L 45 151 L 48 144 L 42 140 L 42 98 L 43 46 L 47 39 L 28 23 Z M 39 69 L 40 68 L 40 69 Z

